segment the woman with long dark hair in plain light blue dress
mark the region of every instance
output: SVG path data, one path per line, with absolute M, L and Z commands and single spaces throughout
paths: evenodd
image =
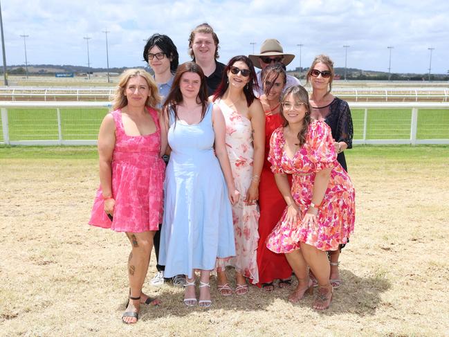
M 217 257 L 235 255 L 231 203 L 239 199 L 226 152 L 226 124 L 208 103 L 205 77 L 194 62 L 181 64 L 163 107 L 165 172 L 161 264 L 165 277 L 187 275 L 184 303 L 210 307 L 210 271 Z M 165 129 L 165 131 L 164 131 Z M 199 301 L 194 270 L 201 271 Z

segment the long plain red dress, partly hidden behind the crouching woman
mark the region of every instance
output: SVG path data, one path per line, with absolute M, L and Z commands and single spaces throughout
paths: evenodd
M 275 176 L 271 172 L 271 163 L 268 161 L 270 152 L 270 139 L 273 131 L 282 125 L 279 113 L 266 114 L 265 119 L 265 159 L 259 183 L 259 244 L 257 247 L 257 268 L 259 270 L 259 283 L 270 283 L 276 279 L 291 277 L 291 268 L 284 254 L 277 254 L 266 248 L 266 238 L 275 228 L 282 217 L 286 206 L 282 194 L 277 189 Z M 288 176 L 291 181 L 291 176 Z

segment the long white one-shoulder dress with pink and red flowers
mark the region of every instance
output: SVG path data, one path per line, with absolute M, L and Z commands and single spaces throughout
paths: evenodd
M 232 206 L 234 223 L 236 256 L 228 259 L 217 259 L 217 270 L 223 271 L 226 266 L 234 266 L 235 270 L 250 278 L 253 284 L 259 282 L 257 271 L 257 242 L 259 233 L 259 209 L 256 204 L 244 202 L 246 191 L 253 179 L 253 138 L 251 121 L 234 111 L 222 100 L 217 100 L 226 121 L 226 149 L 231 164 L 235 188 L 240 198 Z

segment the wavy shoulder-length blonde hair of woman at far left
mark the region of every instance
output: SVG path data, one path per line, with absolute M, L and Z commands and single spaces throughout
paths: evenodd
M 113 110 L 122 109 L 122 107 L 127 106 L 128 99 L 125 95 L 125 90 L 127 89 L 129 79 L 136 78 L 137 76 L 143 78 L 149 87 L 149 95 L 145 101 L 145 106 L 155 109 L 158 107 L 158 104 L 161 102 L 162 98 L 161 95 L 159 95 L 158 86 L 156 85 L 156 82 L 154 82 L 152 75 L 143 69 L 128 69 L 120 75 L 116 93 L 111 96 Z

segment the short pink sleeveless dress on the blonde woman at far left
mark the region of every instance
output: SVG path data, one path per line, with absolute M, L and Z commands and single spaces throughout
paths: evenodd
M 145 136 L 127 136 L 120 109 L 112 111 L 116 122 L 116 145 L 112 154 L 112 195 L 116 200 L 113 221 L 104 212 L 98 188 L 89 224 L 116 232 L 142 233 L 158 230 L 163 214 L 165 164 L 161 151 L 161 128 L 156 110 L 147 108 L 156 131 Z

